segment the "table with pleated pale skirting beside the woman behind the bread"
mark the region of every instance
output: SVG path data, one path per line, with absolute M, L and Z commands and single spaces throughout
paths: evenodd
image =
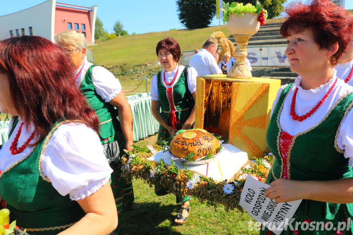
M 159 123 L 152 116 L 151 96 L 149 93 L 141 93 L 126 96 L 132 111 L 133 141 L 144 139 L 158 132 Z

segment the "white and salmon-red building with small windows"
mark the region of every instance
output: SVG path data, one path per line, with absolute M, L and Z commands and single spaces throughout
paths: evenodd
M 0 40 L 37 35 L 54 42 L 54 35 L 74 30 L 95 43 L 97 6 L 83 7 L 47 0 L 41 4 L 9 15 L 0 16 Z

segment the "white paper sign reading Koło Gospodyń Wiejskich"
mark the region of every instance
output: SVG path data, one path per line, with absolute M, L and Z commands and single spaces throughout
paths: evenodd
M 274 234 L 279 235 L 293 217 L 302 200 L 275 203 L 274 200 L 265 198 L 266 189 L 269 187 L 270 185 L 248 175 L 239 204 L 252 218 L 265 225 Z

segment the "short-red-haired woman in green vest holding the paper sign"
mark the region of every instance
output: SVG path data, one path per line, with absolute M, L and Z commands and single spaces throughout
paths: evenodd
M 351 39 L 352 19 L 330 0 L 291 3 L 286 12 L 280 31 L 290 70 L 299 76 L 273 104 L 267 143 L 274 160 L 265 196 L 276 203 L 303 199 L 292 225 L 322 223 L 306 231 L 288 226 L 282 234 L 352 234 L 352 224 L 343 231 L 326 226 L 353 216 L 353 87 L 333 69 Z

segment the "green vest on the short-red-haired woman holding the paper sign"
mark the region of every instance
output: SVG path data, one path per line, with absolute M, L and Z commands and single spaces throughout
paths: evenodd
M 279 152 L 281 133 L 279 116 L 291 87 L 292 84 L 289 84 L 280 94 L 266 134 L 268 146 L 274 156 L 267 184 L 275 180 L 273 175 L 278 179 L 283 173 L 282 157 Z M 348 165 L 348 159 L 344 158 L 344 151 L 338 148 L 336 140 L 339 125 L 345 114 L 352 108 L 352 104 L 353 93 L 349 93 L 337 101 L 318 125 L 293 137 L 288 155 L 290 179 L 336 180 L 353 177 L 352 167 Z M 353 216 L 353 204 L 333 204 L 312 200 L 303 200 L 295 215 L 318 221 L 334 219 L 340 206 L 346 207 Z

